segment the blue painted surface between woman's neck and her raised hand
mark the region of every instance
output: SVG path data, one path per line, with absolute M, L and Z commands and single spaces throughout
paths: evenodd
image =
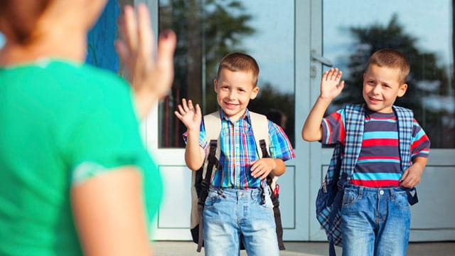
M 117 73 L 119 57 L 114 48 L 117 37 L 117 17 L 119 4 L 117 0 L 109 0 L 95 26 L 87 36 L 86 62 L 99 68 Z

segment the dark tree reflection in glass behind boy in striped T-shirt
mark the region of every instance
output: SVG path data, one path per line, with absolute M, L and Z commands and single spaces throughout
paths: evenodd
M 381 48 L 399 50 L 410 59 L 411 72 L 406 95 L 395 104 L 414 111 L 414 117 L 432 140 L 432 147 L 455 147 L 455 113 L 441 106 L 441 100 L 429 102 L 429 99 L 447 97 L 453 101 L 454 97 L 454 85 L 444 71 L 446 67 L 438 65 L 437 55 L 420 50 L 417 47 L 418 38 L 405 33 L 396 15 L 392 16 L 387 26 L 373 24 L 350 28 L 350 31 L 358 39 L 357 50 L 350 56 L 350 75 L 344 78 L 346 86 L 334 105 L 363 102 L 363 73 L 370 55 Z

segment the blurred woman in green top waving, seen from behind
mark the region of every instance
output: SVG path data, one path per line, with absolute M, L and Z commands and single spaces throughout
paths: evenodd
M 154 56 L 146 6 L 126 6 L 129 84 L 85 65 L 105 4 L 0 0 L 0 255 L 151 255 L 161 178 L 138 118 L 171 87 L 176 36 Z

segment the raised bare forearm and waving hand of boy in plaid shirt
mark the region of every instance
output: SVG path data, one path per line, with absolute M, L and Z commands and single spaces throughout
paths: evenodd
M 176 117 L 185 124 L 188 137 L 186 138 L 185 162 L 186 166 L 193 171 L 198 171 L 205 159 L 205 152 L 199 146 L 200 122 L 202 114 L 198 104 L 193 106 L 191 100 L 182 99 L 182 104 L 178 105 L 175 111 Z

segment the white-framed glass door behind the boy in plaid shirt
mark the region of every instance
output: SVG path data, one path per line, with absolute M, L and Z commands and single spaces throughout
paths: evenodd
M 225 54 L 241 51 L 257 60 L 260 90 L 249 109 L 269 115 L 272 121 L 274 115 L 281 116 L 275 122 L 282 125 L 296 149 L 297 158 L 301 157 L 301 102 L 295 99 L 303 87 L 301 82 L 296 82 L 301 78 L 296 67 L 301 67 L 299 63 L 304 58 L 297 59 L 296 56 L 303 52 L 297 48 L 309 46 L 309 39 L 296 38 L 296 24 L 299 23 L 295 14 L 298 9 L 305 9 L 298 2 L 299 6 L 294 0 L 160 0 L 149 3 L 154 10 L 152 22 L 158 24 L 157 28 L 172 28 L 178 37 L 171 93 L 149 113 L 142 127 L 146 144 L 159 163 L 165 183 L 164 203 L 153 223 L 154 239 L 191 239 L 191 171 L 185 166 L 182 139 L 186 129 L 174 117 L 173 111 L 183 97 L 200 104 L 203 114 L 218 109 L 213 80 L 218 61 Z M 309 20 L 305 22 L 309 24 Z M 301 166 L 306 162 L 306 159 L 287 161 L 286 174 L 278 181 L 285 240 L 308 239 L 308 172 Z

